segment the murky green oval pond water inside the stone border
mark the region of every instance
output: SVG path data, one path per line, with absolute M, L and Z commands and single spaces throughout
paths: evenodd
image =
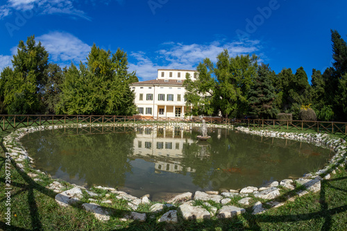
M 196 190 L 260 187 L 320 169 L 333 153 L 287 139 L 209 128 L 144 126 L 63 128 L 21 142 L 35 168 L 76 185 L 117 187 L 161 200 Z

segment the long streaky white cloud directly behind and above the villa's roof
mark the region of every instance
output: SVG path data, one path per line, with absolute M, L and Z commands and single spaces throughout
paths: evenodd
M 136 61 L 130 63 L 129 69 L 136 71 L 137 76 L 142 80 L 155 79 L 158 69 L 195 69 L 203 59 L 210 58 L 212 62 L 217 61 L 217 55 L 227 49 L 230 56 L 255 53 L 261 49 L 259 40 L 248 40 L 244 42 L 219 42 L 210 44 L 182 44 L 175 42 L 165 42 L 164 49 L 150 54 L 143 51 L 130 53 L 130 57 Z M 156 62 L 154 62 L 154 60 Z

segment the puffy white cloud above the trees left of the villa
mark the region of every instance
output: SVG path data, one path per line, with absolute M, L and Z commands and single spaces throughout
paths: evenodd
M 83 41 L 65 32 L 51 32 L 36 38 L 49 52 L 51 61 L 60 65 L 69 65 L 74 62 L 78 65 L 80 61 L 85 62 L 90 47 Z

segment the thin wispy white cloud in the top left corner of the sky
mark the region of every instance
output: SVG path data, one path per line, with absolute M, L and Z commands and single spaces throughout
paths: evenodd
M 12 15 L 15 10 L 33 10 L 42 15 L 67 14 L 90 20 L 85 12 L 74 8 L 72 1 L 65 0 L 8 0 L 6 5 L 0 7 L 0 19 Z

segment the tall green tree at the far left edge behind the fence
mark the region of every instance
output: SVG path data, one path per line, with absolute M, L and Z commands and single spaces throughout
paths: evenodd
M 26 44 L 19 41 L 17 55 L 13 55 L 13 69 L 1 72 L 1 94 L 9 114 L 35 114 L 41 109 L 42 83 L 48 65 L 48 52 L 35 36 Z

